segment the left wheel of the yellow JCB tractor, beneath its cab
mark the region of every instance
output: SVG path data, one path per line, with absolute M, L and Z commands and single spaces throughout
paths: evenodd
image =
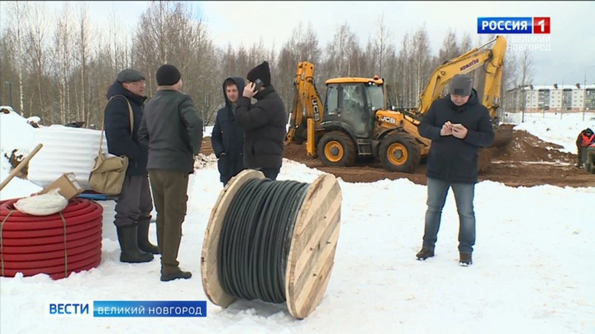
M 356 153 L 352 138 L 341 131 L 326 133 L 318 141 L 318 157 L 327 166 L 353 166 Z

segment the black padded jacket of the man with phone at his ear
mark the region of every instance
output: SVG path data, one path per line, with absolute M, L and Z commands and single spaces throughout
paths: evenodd
M 283 100 L 273 86 L 258 92 L 256 103 L 248 97 L 237 100 L 235 118 L 245 130 L 244 165 L 248 168 L 281 168 L 287 115 Z

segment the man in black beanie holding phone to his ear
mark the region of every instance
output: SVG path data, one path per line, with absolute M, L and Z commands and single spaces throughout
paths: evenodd
M 245 130 L 244 165 L 277 179 L 283 163 L 287 115 L 283 100 L 271 85 L 268 62 L 252 68 L 248 84 L 237 101 L 235 118 Z M 256 103 L 251 104 L 254 97 Z

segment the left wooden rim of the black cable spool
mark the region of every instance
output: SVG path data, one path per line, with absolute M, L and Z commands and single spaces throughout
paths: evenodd
M 211 303 L 221 307 L 228 307 L 236 300 L 236 297 L 228 295 L 221 286 L 218 261 L 219 261 L 219 240 L 223 220 L 231 200 L 240 190 L 243 184 L 253 178 L 264 178 L 264 174 L 253 169 L 245 169 L 231 178 L 227 185 L 221 190 L 215 206 L 211 210 L 209 225 L 206 226 L 205 238 L 202 242 L 201 275 L 202 288 Z

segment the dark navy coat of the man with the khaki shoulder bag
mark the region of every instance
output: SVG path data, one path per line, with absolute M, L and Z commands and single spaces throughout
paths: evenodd
M 132 136 L 130 136 L 129 100 L 134 116 Z M 114 97 L 115 96 L 115 97 Z M 127 156 L 129 163 L 126 175 L 146 175 L 148 152 L 139 141 L 139 127 L 143 117 L 143 103 L 145 96 L 139 96 L 125 89 L 118 81 L 109 86 L 105 97 L 108 104 L 104 109 L 105 139 L 108 143 L 108 152 L 112 155 Z M 109 100 L 111 97 L 113 99 Z

